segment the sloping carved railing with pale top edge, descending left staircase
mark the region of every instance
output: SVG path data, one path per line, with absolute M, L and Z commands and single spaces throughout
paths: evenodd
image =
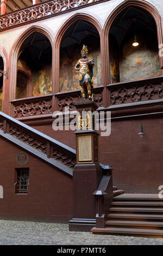
M 0 112 L 0 129 L 67 167 L 76 163 L 76 151 L 32 127 Z

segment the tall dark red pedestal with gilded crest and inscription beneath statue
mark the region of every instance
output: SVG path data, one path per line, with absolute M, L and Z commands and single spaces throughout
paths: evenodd
M 95 130 L 94 114 L 98 106 L 86 99 L 77 101 L 76 108 L 77 159 L 73 169 L 73 219 L 69 230 L 91 231 L 96 226 L 96 197 L 93 192 L 103 176 L 99 164 L 99 133 Z

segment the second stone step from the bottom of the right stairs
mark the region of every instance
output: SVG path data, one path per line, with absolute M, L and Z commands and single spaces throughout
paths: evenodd
M 124 226 L 142 226 L 142 227 L 163 227 L 163 222 L 156 221 L 126 221 L 126 220 L 108 220 L 106 225 L 124 225 Z

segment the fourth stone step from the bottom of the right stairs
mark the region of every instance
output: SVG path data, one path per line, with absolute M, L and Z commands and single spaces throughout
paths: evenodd
M 115 207 L 115 206 L 113 206 L 113 207 L 110 208 L 109 211 L 110 212 L 112 212 L 112 211 L 118 211 L 118 212 L 120 212 L 120 211 L 124 211 L 124 212 L 134 211 L 135 212 L 136 211 L 136 212 L 156 212 L 156 213 L 160 213 L 160 212 L 163 212 L 163 208 L 142 208 L 142 207 L 135 208 L 135 207 Z

